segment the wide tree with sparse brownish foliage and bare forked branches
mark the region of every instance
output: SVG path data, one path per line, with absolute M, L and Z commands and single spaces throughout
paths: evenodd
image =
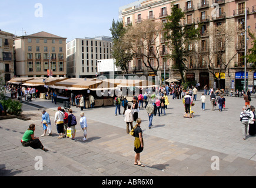
M 131 52 L 136 58 L 141 59 L 145 67 L 150 68 L 155 75 L 158 75 L 160 65 L 161 43 L 157 39 L 163 31 L 162 29 L 161 22 L 146 19 L 139 24 L 130 26 L 124 35 L 124 43 L 132 46 Z

